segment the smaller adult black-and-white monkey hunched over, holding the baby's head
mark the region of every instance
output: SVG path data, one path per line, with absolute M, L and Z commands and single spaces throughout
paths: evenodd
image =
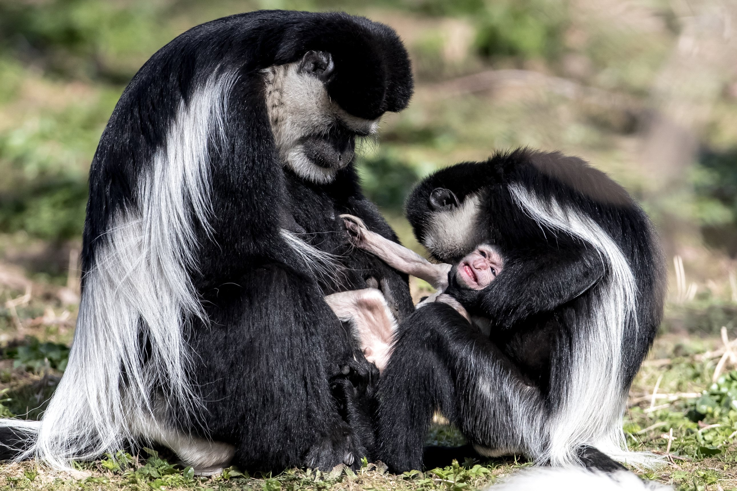
M 378 458 L 417 469 L 440 411 L 487 456 L 621 469 L 621 416 L 663 311 L 663 261 L 646 214 L 578 158 L 525 149 L 461 163 L 408 199 L 417 239 L 458 263 L 490 244 L 503 269 L 483 289 L 454 266 L 445 294 L 399 325 L 379 389 Z M 461 278 L 459 281 L 458 278 Z M 603 453 L 602 453 L 603 452 Z

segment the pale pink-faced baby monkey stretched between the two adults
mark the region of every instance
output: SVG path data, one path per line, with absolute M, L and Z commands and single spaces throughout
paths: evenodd
M 437 290 L 419 303 L 418 308 L 430 302 L 447 303 L 482 332 L 489 334 L 488 322 L 479 317 L 470 317 L 463 305 L 443 292 L 448 286 L 449 275 L 471 289 L 480 290 L 489 285 L 501 272 L 504 263 L 495 247 L 481 244 L 455 266 L 433 264 L 413 250 L 371 232 L 357 216 L 346 214 L 340 217 L 354 246 L 371 252 L 397 271 L 427 281 Z M 391 338 L 397 329 L 397 321 L 380 290 L 367 288 L 334 293 L 327 295 L 325 301 L 338 319 L 352 325 L 366 360 L 374 363 L 379 372 L 383 372 L 389 361 Z

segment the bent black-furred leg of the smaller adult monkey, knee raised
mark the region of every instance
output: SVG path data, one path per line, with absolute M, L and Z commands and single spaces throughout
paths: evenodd
M 395 339 L 379 383 L 377 459 L 393 472 L 422 467 L 436 409 L 475 445 L 537 456 L 530 449 L 547 437 L 545 400 L 488 336 L 431 303 L 405 319 Z

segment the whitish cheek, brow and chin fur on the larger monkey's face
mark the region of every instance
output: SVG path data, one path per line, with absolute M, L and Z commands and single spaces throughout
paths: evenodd
M 335 179 L 338 169 L 312 163 L 304 155 L 301 139 L 326 134 L 336 121 L 359 135 L 371 135 L 376 133 L 379 120 L 346 113 L 330 99 L 324 83 L 312 74 L 301 73 L 299 65 L 300 62 L 288 63 L 264 71 L 271 131 L 285 165 L 305 180 L 325 184 Z

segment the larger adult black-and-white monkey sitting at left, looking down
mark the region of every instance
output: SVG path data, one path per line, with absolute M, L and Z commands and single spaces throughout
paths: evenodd
M 396 240 L 354 139 L 412 91 L 397 34 L 343 13 L 233 15 L 154 54 L 91 166 L 69 366 L 40 425 L 4 420 L 3 441 L 57 467 L 135 442 L 200 472 L 357 465 L 375 368 L 323 297 L 372 284 L 412 311 L 339 218 Z

